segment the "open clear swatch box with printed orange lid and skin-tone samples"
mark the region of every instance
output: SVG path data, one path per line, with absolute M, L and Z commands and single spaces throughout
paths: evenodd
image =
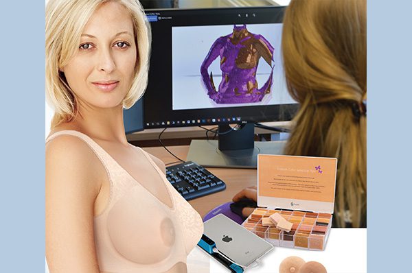
M 259 154 L 258 208 L 242 226 L 273 246 L 324 250 L 332 226 L 336 167 L 336 158 Z M 264 219 L 275 213 L 291 223 L 290 231 Z

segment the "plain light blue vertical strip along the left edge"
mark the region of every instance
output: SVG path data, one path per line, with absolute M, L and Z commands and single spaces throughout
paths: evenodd
M 0 272 L 45 270 L 45 4 L 0 8 Z

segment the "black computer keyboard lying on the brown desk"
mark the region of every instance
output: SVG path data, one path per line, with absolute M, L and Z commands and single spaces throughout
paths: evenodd
M 222 180 L 192 161 L 167 167 L 166 178 L 185 200 L 226 189 Z

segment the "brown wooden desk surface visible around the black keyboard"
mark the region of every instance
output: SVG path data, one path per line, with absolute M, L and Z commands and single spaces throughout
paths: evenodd
M 160 158 L 165 164 L 176 161 L 176 158 L 169 154 L 163 147 L 144 147 L 143 149 Z M 179 156 L 179 158 L 185 160 L 189 146 L 169 146 L 168 149 L 170 152 L 176 154 L 176 156 Z M 231 201 L 231 198 L 245 187 L 256 185 L 256 169 L 207 169 L 226 183 L 226 189 L 225 191 L 212 193 L 189 201 L 202 218 L 216 206 Z

